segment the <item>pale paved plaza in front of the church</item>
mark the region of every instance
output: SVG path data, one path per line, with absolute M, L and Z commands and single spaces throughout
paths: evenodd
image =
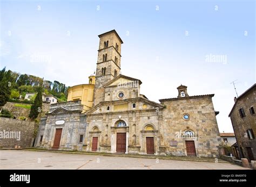
M 0 169 L 248 169 L 231 163 L 0 150 Z

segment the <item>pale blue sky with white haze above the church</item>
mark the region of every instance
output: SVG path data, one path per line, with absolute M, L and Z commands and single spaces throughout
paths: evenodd
M 255 83 L 255 1 L 0 0 L 0 69 L 68 86 L 96 70 L 98 35 L 116 30 L 123 75 L 159 99 L 214 93 L 220 132 L 236 96 Z

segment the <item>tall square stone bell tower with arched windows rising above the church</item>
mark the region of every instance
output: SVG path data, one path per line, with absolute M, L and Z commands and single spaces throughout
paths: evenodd
M 120 73 L 122 39 L 115 30 L 98 35 L 99 49 L 93 105 L 104 101 L 104 85 Z

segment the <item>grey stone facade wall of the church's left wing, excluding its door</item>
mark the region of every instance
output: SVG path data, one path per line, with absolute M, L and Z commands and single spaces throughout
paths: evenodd
M 57 128 L 62 128 L 59 150 L 82 150 L 80 135 L 85 136 L 85 115 L 82 114 L 81 101 L 52 104 L 50 113 L 42 117 L 39 123 L 35 147 L 51 149 Z M 56 123 L 61 121 L 62 123 Z M 42 139 L 41 139 L 42 137 Z M 42 141 L 41 141 L 42 140 Z

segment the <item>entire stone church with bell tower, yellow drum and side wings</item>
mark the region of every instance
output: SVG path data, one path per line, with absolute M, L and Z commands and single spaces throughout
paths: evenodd
M 218 157 L 221 142 L 212 97 L 149 100 L 142 81 L 120 73 L 122 39 L 98 35 L 96 73 L 68 90 L 68 102 L 51 104 L 39 123 L 35 147 L 112 154 Z

